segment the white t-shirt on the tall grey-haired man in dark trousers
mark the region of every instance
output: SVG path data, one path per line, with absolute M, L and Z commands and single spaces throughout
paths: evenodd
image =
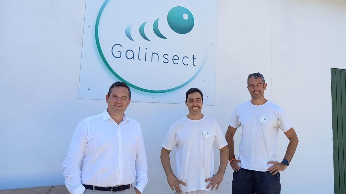
M 283 132 L 292 128 L 283 109 L 270 101 L 259 106 L 251 101 L 238 105 L 229 125 L 234 128 L 242 126 L 238 165 L 262 172 L 273 166 L 268 162 L 276 161 L 279 128 Z

